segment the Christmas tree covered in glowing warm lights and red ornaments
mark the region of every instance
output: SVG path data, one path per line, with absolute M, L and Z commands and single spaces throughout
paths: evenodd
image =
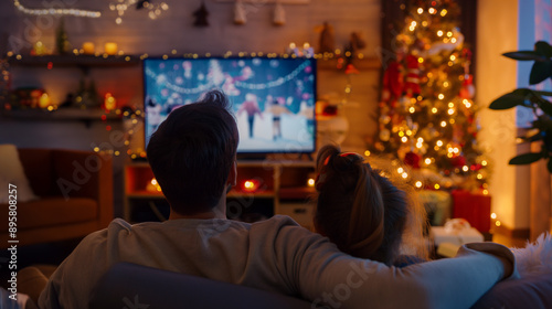
M 391 157 L 421 189 L 484 189 L 488 160 L 477 145 L 471 51 L 450 0 L 413 1 L 394 38 L 379 105 L 372 152 Z

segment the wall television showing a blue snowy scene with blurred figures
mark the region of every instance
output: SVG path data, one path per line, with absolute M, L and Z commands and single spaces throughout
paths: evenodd
M 238 153 L 316 149 L 314 58 L 146 58 L 144 82 L 146 146 L 171 110 L 220 89 L 232 102 Z

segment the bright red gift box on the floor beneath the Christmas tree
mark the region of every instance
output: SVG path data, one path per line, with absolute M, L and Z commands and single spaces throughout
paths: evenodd
M 490 196 L 466 190 L 454 190 L 453 217 L 463 217 L 481 233 L 490 231 Z

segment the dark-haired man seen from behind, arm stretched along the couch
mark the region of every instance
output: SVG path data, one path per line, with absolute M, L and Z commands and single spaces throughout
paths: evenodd
M 298 296 L 312 308 L 468 308 L 516 276 L 513 256 L 497 244 L 400 269 L 343 254 L 287 216 L 226 220 L 238 143 L 227 105 L 214 90 L 169 115 L 148 146 L 169 220 L 130 225 L 116 219 L 88 235 L 52 275 L 40 308 L 86 308 L 98 279 L 119 262 Z

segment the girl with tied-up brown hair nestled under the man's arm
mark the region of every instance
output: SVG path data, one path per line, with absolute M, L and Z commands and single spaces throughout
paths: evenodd
M 425 212 L 407 187 L 399 189 L 362 156 L 331 145 L 318 152 L 317 170 L 318 233 L 342 252 L 386 265 L 427 259 Z

